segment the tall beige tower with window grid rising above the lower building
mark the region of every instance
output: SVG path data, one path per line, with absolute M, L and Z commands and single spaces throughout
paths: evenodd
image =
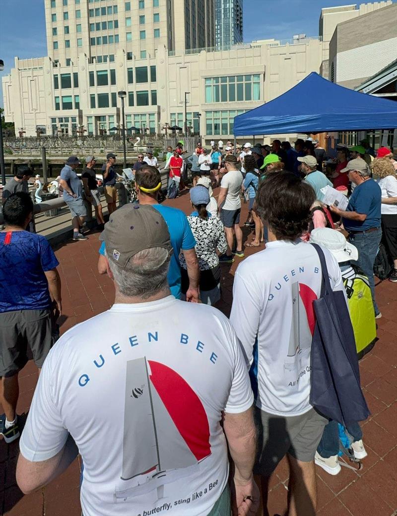
M 159 46 L 186 50 L 214 45 L 213 0 L 45 0 L 48 55 L 69 66 L 154 56 Z

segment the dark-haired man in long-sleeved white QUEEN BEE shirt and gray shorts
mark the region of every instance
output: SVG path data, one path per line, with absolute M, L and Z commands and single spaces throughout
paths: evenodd
M 307 229 L 315 193 L 284 172 L 270 174 L 256 199 L 268 242 L 237 268 L 230 315 L 258 386 L 261 430 L 254 472 L 261 475 L 266 505 L 269 477 L 287 454 L 288 513 L 314 515 L 314 455 L 328 421 L 309 404 L 313 300 L 320 297 L 322 274 L 316 250 L 299 236 Z M 332 289 L 344 292 L 338 262 L 323 251 Z

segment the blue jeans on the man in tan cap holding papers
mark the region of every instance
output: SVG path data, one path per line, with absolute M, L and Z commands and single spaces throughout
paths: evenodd
M 361 233 L 349 233 L 350 243 L 358 249 L 358 260 L 352 260 L 351 263 L 358 265 L 368 277 L 375 315 L 379 313 L 379 309 L 375 301 L 374 261 L 381 238 L 382 230 L 380 228 L 376 231 L 370 232 L 362 231 Z

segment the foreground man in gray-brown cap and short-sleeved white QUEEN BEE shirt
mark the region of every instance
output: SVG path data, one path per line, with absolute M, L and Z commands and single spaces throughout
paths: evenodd
M 85 516 L 229 514 L 227 439 L 236 513 L 255 514 L 253 395 L 230 322 L 170 295 L 170 235 L 152 206 L 123 206 L 104 233 L 115 304 L 62 335 L 45 360 L 20 488 L 45 485 L 78 451 Z

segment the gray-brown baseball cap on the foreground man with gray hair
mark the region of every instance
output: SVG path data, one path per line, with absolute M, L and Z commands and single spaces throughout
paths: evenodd
M 109 260 L 125 269 L 138 252 L 163 247 L 173 252 L 168 226 L 160 213 L 145 204 L 125 204 L 110 215 L 102 238 Z

